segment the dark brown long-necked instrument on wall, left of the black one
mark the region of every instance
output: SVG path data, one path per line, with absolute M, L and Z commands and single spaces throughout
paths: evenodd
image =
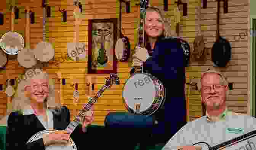
M 203 53 L 205 52 L 205 39 L 202 35 L 202 29 L 201 29 L 201 4 L 202 0 L 198 0 L 198 34 L 195 37 L 194 43 L 193 43 L 193 49 L 192 49 L 192 55 L 195 59 L 200 59 L 203 56 Z

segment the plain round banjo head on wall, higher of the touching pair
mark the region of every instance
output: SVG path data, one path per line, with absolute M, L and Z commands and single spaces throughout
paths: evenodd
M 35 58 L 41 62 L 48 62 L 54 57 L 54 49 L 51 43 L 40 42 L 34 49 Z

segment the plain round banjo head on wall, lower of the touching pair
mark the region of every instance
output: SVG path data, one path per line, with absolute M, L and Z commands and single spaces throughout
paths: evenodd
M 32 49 L 22 49 L 18 54 L 18 62 L 21 66 L 26 68 L 31 68 L 37 64 L 37 59 L 35 58 Z

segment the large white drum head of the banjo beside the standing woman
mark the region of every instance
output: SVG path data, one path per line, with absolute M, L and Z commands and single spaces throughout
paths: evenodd
M 129 112 L 136 112 L 135 105 L 140 104 L 140 114 L 151 115 L 157 110 L 150 110 L 158 94 L 158 85 L 146 73 L 131 76 L 123 87 L 123 101 Z M 161 100 L 160 100 L 161 101 Z M 159 102 L 160 102 L 159 101 Z

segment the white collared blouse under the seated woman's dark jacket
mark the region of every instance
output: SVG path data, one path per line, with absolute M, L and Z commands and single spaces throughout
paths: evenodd
M 34 109 L 30 106 L 30 109 L 24 109 L 23 115 L 31 115 L 35 114 Z M 45 122 L 43 119 L 43 115 L 36 115 L 38 120 L 42 123 L 42 125 L 45 127 L 45 129 L 53 129 L 53 114 L 49 111 L 49 109 L 46 109 L 46 117 L 48 122 Z

